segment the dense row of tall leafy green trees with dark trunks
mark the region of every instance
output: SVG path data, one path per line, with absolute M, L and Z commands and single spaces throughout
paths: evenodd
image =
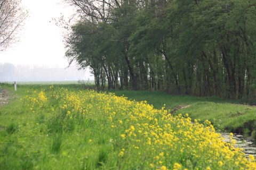
M 90 67 L 98 89 L 255 95 L 254 0 L 66 2 L 81 16 L 66 57 Z

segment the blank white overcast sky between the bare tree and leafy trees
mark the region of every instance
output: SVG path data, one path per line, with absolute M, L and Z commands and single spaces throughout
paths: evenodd
M 67 67 L 68 61 L 63 57 L 63 30 L 52 19 L 61 14 L 68 18 L 73 14 L 73 8 L 62 4 L 61 0 L 23 0 L 23 6 L 29 16 L 19 32 L 19 42 L 0 52 L 0 63 Z M 89 71 L 86 74 L 89 77 Z

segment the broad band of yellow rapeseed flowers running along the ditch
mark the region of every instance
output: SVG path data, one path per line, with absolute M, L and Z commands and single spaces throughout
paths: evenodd
M 188 115 L 173 116 L 146 101 L 53 87 L 26 99 L 29 108 L 49 109 L 54 103 L 52 111 L 68 118 L 85 116 L 103 122 L 102 130 L 110 134 L 109 142 L 115 146 L 116 164 L 132 162 L 139 169 L 256 169 L 254 157 L 247 159 L 234 147 L 233 134 L 230 143 L 224 142 L 210 121 L 192 122 Z

